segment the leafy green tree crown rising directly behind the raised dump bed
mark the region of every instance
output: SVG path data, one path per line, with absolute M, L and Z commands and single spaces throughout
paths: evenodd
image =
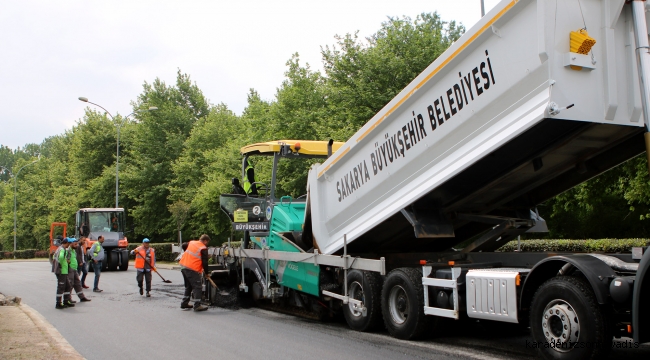
M 326 46 L 327 112 L 321 137 L 347 140 L 464 33 L 437 13 L 389 18 L 374 35 L 337 36 Z

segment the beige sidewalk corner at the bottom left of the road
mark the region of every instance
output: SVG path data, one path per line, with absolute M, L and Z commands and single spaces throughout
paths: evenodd
M 0 306 L 0 358 L 84 359 L 52 324 L 26 304 Z

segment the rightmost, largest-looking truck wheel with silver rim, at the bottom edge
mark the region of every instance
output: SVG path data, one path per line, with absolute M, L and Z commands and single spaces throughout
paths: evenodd
M 537 289 L 530 331 L 545 359 L 595 359 L 612 346 L 607 316 L 591 287 L 572 276 L 552 278 Z

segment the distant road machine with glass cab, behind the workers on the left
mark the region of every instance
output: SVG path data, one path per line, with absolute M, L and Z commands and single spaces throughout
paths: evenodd
M 87 248 L 104 237 L 102 271 L 129 268 L 129 241 L 125 235 L 124 208 L 83 208 L 75 214 L 75 237 L 88 238 Z M 93 271 L 92 266 L 89 267 Z

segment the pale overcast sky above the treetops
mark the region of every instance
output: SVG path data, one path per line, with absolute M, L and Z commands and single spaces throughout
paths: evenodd
M 498 0 L 485 0 L 486 12 Z M 272 100 L 286 62 L 322 70 L 335 36 L 375 33 L 388 16 L 437 11 L 467 29 L 480 0 L 20 0 L 0 8 L 0 145 L 71 129 L 88 105 L 127 115 L 145 82 L 180 69 L 237 114 L 249 90 Z

